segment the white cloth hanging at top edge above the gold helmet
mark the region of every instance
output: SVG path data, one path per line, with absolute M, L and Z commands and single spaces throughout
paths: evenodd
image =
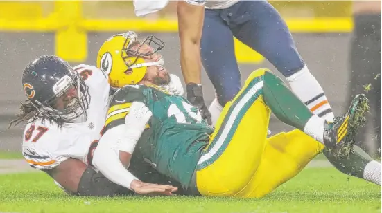
M 148 15 L 166 8 L 169 0 L 134 0 L 134 12 L 137 17 Z

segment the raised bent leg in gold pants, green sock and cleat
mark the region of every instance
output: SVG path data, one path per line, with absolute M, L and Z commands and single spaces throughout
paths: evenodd
M 233 102 L 223 109 L 211 142 L 199 160 L 199 192 L 234 196 L 250 182 L 263 156 L 269 109 L 281 121 L 341 154 L 342 147 L 347 148 L 354 139 L 357 116 L 363 115 L 354 109 L 358 104 L 364 104 L 363 100 L 357 99 L 346 116 L 326 127 L 325 121 L 313 115 L 277 76 L 266 69 L 254 71 Z M 324 138 L 325 133 L 330 137 Z

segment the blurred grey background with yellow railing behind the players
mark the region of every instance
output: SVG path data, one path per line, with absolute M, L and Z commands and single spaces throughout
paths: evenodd
M 8 123 L 25 100 L 21 74 L 31 59 L 58 55 L 71 65 L 96 65 L 98 48 L 116 33 L 155 34 L 169 71 L 182 77 L 176 1 L 162 11 L 138 18 L 132 1 L 0 1 L 0 151 L 19 151 L 24 125 Z M 270 1 L 293 33 L 299 53 L 322 85 L 336 115 L 344 113 L 354 93 L 372 103 L 370 122 L 358 138 L 373 156 L 381 154 L 381 1 Z M 266 59 L 236 41 L 242 80 Z M 205 100 L 214 89 L 203 71 Z M 290 130 L 272 116 L 272 133 Z M 364 137 L 363 137 L 364 136 Z

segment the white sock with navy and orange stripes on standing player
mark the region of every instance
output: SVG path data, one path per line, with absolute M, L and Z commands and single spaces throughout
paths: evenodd
M 293 93 L 304 102 L 313 114 L 325 120 L 333 121 L 334 114 L 327 96 L 306 65 L 297 73 L 287 77 L 286 80 L 289 82 Z

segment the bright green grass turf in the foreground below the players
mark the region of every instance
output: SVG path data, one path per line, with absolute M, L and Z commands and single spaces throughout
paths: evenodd
M 333 168 L 306 168 L 261 199 L 73 197 L 43 174 L 0 175 L 0 212 L 381 212 L 381 187 Z

